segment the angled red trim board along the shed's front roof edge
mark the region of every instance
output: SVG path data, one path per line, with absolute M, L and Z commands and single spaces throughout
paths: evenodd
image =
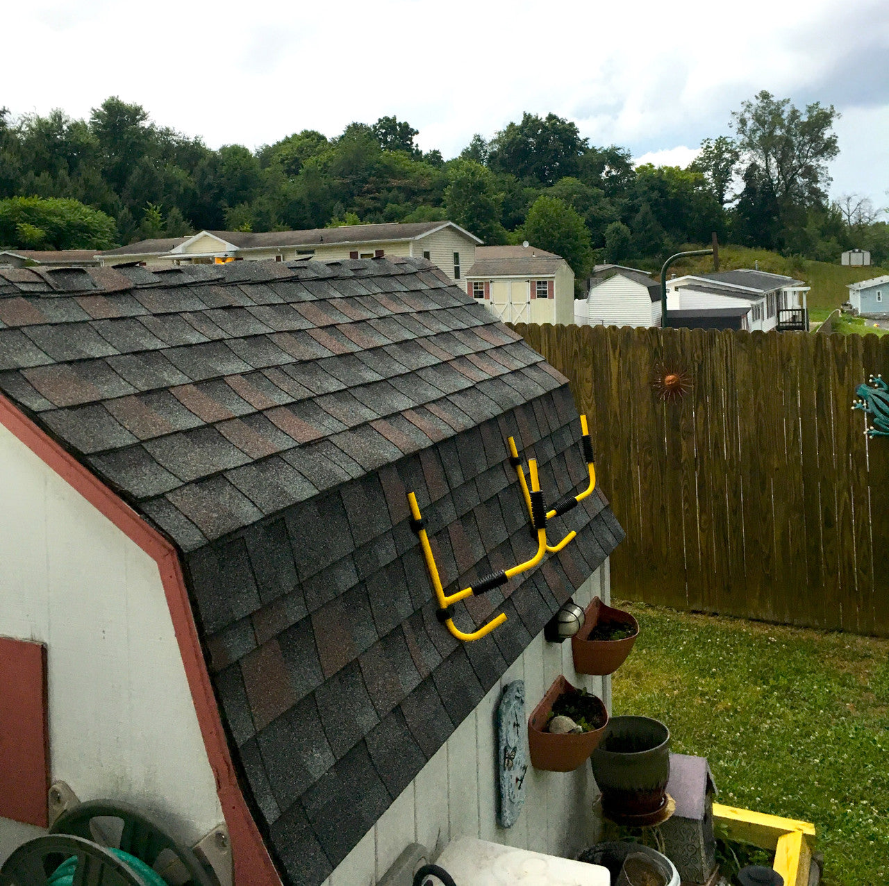
M 281 878 L 237 784 L 176 548 L 4 395 L 0 395 L 0 424 L 157 563 L 197 722 L 216 778 L 216 794 L 228 826 L 235 882 L 237 886 L 280 886 Z M 45 814 L 45 791 L 43 803 Z

